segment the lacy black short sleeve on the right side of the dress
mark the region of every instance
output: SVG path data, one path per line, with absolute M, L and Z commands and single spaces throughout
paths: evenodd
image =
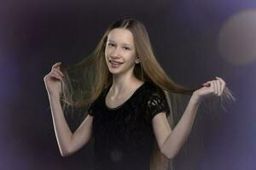
M 147 122 L 152 122 L 154 116 L 160 112 L 166 112 L 166 116 L 170 115 L 170 108 L 166 101 L 166 96 L 158 92 L 148 95 L 145 103 L 145 118 Z

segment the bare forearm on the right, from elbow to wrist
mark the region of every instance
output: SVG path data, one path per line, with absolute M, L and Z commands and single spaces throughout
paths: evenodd
M 183 116 L 162 146 L 162 151 L 167 157 L 173 158 L 182 148 L 195 121 L 195 115 L 199 105 L 200 102 L 192 95 Z

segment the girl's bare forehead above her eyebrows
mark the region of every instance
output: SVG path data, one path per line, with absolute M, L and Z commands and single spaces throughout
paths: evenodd
M 108 41 L 112 40 L 117 43 L 133 44 L 133 35 L 131 31 L 125 28 L 115 28 L 108 33 Z

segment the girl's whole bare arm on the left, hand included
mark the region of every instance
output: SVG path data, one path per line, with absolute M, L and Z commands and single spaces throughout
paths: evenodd
M 49 74 L 44 77 L 44 83 L 49 96 L 55 136 L 61 156 L 69 156 L 90 140 L 93 116 L 88 115 L 76 131 L 71 132 L 61 108 L 61 82 L 64 75 L 60 71 L 60 65 L 59 62 L 52 66 Z

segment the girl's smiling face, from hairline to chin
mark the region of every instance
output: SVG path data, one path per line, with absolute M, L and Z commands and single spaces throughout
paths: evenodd
M 105 59 L 108 70 L 113 74 L 133 71 L 137 56 L 131 31 L 115 28 L 109 32 Z

